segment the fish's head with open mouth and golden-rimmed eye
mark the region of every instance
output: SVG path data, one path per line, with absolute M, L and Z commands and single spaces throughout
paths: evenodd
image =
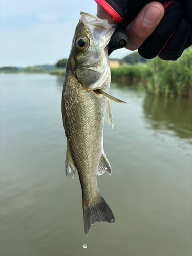
M 69 61 L 74 75 L 85 89 L 101 88 L 111 75 L 108 43 L 116 26 L 81 12 Z

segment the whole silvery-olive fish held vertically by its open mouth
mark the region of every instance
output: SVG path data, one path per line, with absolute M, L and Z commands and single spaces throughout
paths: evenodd
M 108 43 L 116 25 L 81 12 L 67 61 L 62 91 L 62 119 L 67 137 L 65 172 L 78 172 L 82 189 L 84 232 L 96 222 L 114 223 L 109 205 L 97 186 L 97 174 L 111 175 L 112 168 L 103 150 L 103 125 L 113 127 L 109 95 L 111 71 Z M 105 113 L 106 112 L 106 113 Z

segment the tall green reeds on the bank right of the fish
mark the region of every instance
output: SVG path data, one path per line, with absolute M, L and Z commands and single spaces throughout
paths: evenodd
M 111 69 L 112 81 L 138 84 L 139 88 L 155 95 L 192 97 L 192 48 L 184 51 L 177 61 L 160 58 Z

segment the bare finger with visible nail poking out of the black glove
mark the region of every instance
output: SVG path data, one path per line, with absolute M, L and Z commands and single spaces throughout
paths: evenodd
M 126 49 L 138 49 L 150 36 L 164 15 L 164 7 L 159 2 L 151 2 L 143 7 L 137 17 L 125 29 L 129 42 Z

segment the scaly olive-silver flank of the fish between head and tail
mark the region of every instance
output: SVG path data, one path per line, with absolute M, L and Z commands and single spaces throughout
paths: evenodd
M 69 146 L 78 170 L 83 199 L 90 202 L 95 198 L 95 194 L 98 194 L 96 178 L 103 152 L 103 124 L 107 99 L 95 92 L 84 90 L 73 77 L 68 79 L 73 79 L 73 87 L 66 86 L 63 93 L 65 102 L 69 102 L 65 104 Z

